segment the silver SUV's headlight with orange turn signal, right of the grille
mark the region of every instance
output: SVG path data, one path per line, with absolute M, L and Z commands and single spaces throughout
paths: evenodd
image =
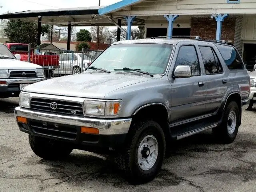
M 85 115 L 117 117 L 121 108 L 121 100 L 115 101 L 84 101 Z

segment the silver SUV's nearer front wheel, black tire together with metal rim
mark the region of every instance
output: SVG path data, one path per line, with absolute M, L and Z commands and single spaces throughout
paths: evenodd
M 152 120 L 134 124 L 126 148 L 116 162 L 128 179 L 137 184 L 152 180 L 159 172 L 165 154 L 165 137 L 160 125 Z

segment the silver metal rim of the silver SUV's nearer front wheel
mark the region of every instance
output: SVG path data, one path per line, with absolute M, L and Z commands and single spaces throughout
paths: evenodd
M 158 142 L 153 135 L 143 138 L 138 147 L 138 165 L 144 171 L 150 170 L 156 163 L 158 156 Z

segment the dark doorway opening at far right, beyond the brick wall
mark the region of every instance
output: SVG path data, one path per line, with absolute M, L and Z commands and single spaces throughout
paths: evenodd
M 256 44 L 244 44 L 244 64 L 248 71 L 253 71 L 256 64 Z

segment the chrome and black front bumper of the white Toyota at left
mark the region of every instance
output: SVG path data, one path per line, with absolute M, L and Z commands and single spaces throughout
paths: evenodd
M 0 79 L 6 82 L 6 84 L 0 85 L 0 97 L 18 97 L 20 94 L 20 84 L 33 84 L 45 79 L 46 78 Z

